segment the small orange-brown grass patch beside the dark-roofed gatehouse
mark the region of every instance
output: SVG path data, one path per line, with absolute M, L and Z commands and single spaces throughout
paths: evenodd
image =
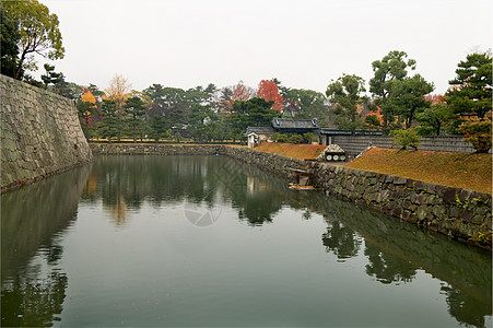
M 256 147 L 255 150 L 296 160 L 315 160 L 325 148 L 324 144 L 263 142 Z

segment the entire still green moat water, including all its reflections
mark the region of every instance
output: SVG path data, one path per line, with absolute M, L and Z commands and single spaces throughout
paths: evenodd
M 491 327 L 491 254 L 223 156 L 1 196 L 2 326 Z

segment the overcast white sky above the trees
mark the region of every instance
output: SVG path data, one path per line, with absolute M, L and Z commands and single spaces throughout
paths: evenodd
M 39 0 L 60 20 L 66 80 L 106 89 L 122 74 L 218 87 L 278 78 L 324 92 L 342 73 L 403 50 L 444 93 L 467 54 L 492 48 L 491 0 Z M 43 72 L 42 68 L 39 72 Z

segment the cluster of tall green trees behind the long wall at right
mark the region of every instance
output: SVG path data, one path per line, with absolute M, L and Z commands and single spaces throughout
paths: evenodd
M 379 129 L 419 143 L 421 136 L 463 134 L 479 152 L 491 148 L 492 52 L 467 55 L 457 65 L 456 78 L 444 95 L 432 95 L 435 86 L 422 75 L 410 75 L 416 67 L 404 51 L 390 51 L 372 62 L 368 97 L 361 77 L 343 74 L 331 81 L 327 96 L 334 104 L 336 124 L 351 130 Z M 359 108 L 367 106 L 369 115 Z M 374 113 L 374 114 L 373 114 Z M 403 144 L 406 147 L 406 144 Z

